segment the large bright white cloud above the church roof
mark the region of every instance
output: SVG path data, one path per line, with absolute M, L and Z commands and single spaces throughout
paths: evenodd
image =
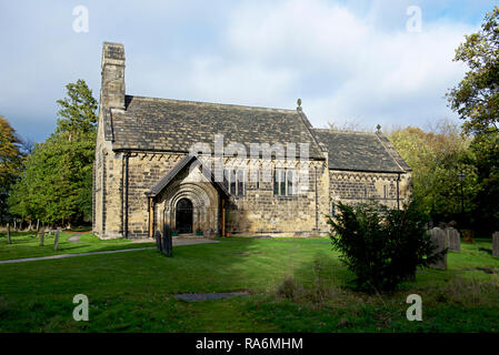
M 463 74 L 453 51 L 476 29 L 425 22 L 421 33 L 409 33 L 405 11 L 395 29 L 377 26 L 373 13 L 319 0 L 243 3 L 230 16 L 226 51 L 192 59 L 190 85 L 222 102 L 290 108 L 301 95 L 317 126 L 451 116 L 443 95 Z

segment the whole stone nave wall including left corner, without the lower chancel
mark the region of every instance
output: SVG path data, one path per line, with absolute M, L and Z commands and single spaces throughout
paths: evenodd
M 106 144 L 98 144 L 99 148 Z M 108 152 L 101 149 L 96 159 L 94 182 L 94 233 L 101 237 L 124 236 L 126 217 L 128 215 L 128 236 L 147 237 L 149 230 L 149 201 L 146 193 L 156 185 L 178 162 L 183 154 L 146 153 L 146 152 Z M 128 187 L 127 187 L 128 160 Z M 226 166 L 237 164 L 226 159 Z M 279 162 L 253 160 L 253 165 L 270 164 L 270 171 Z M 266 165 L 267 166 L 267 165 Z M 291 168 L 291 166 L 288 166 Z M 300 169 L 299 162 L 292 166 Z M 171 185 L 184 183 L 184 175 L 179 175 Z M 210 205 L 198 219 L 197 227 L 217 230 L 219 232 L 219 202 L 211 183 L 198 183 L 200 195 L 209 196 Z M 317 186 L 317 189 L 316 189 Z M 167 190 L 171 187 L 167 187 Z M 169 194 L 172 192 L 169 190 Z M 126 211 L 128 191 L 128 214 Z M 201 193 L 203 192 L 203 193 Z M 290 196 L 273 194 L 273 180 L 259 183 L 248 181 L 243 196 L 232 196 L 227 205 L 228 232 L 267 233 L 273 235 L 310 235 L 328 231 L 325 217 L 329 210 L 329 179 L 325 161 L 310 161 L 308 184 L 301 193 Z M 164 215 L 171 216 L 171 205 L 166 204 L 167 193 L 158 196 L 154 207 L 154 226 L 159 227 Z M 199 196 L 202 199 L 202 196 Z M 199 200 L 198 199 L 198 200 Z M 190 200 L 194 200 L 192 196 Z M 167 209 L 170 212 L 164 213 Z M 168 214 L 170 213 L 170 214 Z M 174 220 L 174 219 L 173 219 Z M 171 217 L 170 217 L 171 224 Z M 174 227 L 174 225 L 173 225 Z

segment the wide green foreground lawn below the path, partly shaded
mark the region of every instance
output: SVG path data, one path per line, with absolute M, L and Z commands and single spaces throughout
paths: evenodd
M 499 260 L 480 251 L 490 241 L 461 244 L 448 271 L 426 270 L 383 295 L 346 286 L 351 274 L 328 239 L 220 241 L 174 247 L 173 257 L 148 250 L 0 265 L 0 332 L 499 331 L 498 275 L 476 270 L 499 270 Z M 251 296 L 172 296 L 230 291 Z M 89 322 L 72 320 L 80 293 L 89 297 Z M 406 318 L 411 293 L 422 296 L 422 322 Z

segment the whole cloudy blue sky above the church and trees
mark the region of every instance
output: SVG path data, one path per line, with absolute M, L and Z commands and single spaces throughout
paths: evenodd
M 88 32 L 78 6 L 88 10 Z M 128 94 L 296 108 L 315 126 L 425 126 L 453 119 L 452 62 L 495 1 L 0 0 L 0 114 L 43 141 L 56 100 L 84 79 L 99 97 L 103 41 L 124 43 Z M 418 22 L 420 9 L 421 22 Z M 76 26 L 74 26 L 76 24 Z

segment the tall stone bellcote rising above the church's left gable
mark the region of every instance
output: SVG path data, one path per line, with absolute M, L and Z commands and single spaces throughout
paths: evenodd
M 104 42 L 102 47 L 101 105 L 124 110 L 124 47 Z

